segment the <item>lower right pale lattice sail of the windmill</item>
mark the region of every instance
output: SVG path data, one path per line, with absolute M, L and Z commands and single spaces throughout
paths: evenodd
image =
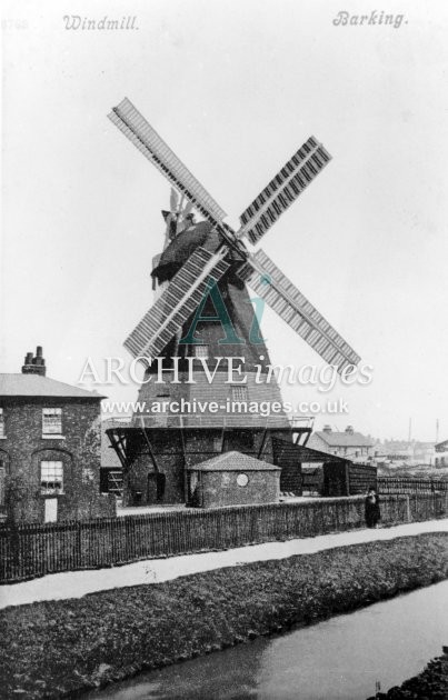
M 262 250 L 251 256 L 239 274 L 339 373 L 350 364 L 358 364 L 360 357 L 355 350 Z

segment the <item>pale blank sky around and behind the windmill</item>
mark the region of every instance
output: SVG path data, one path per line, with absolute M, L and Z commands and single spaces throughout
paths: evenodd
M 374 367 L 325 400 L 378 438 L 448 438 L 447 29 L 442 0 L 6 2 L 2 10 L 1 371 L 43 346 L 76 384 L 151 304 L 169 184 L 107 119 L 126 96 L 238 224 L 311 134 L 332 161 L 260 246 Z M 133 30 L 67 29 L 78 16 Z M 64 19 L 68 18 L 68 19 Z M 398 23 L 398 22 L 397 22 Z M 445 262 L 444 262 L 445 261 Z M 322 367 L 273 312 L 271 360 Z M 130 358 L 129 358 L 130 359 Z M 135 383 L 99 387 L 133 400 Z M 317 387 L 285 400 L 321 400 Z

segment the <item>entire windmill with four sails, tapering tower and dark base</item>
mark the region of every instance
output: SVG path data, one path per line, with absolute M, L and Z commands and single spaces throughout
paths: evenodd
M 258 243 L 330 156 L 309 138 L 242 212 L 235 231 L 128 99 L 109 118 L 173 188 L 170 211 L 162 212 L 165 249 L 151 272 L 157 301 L 125 341 L 146 366 L 139 391 L 145 410 L 135 413 L 131 428 L 109 437 L 128 474 L 128 502 L 185 501 L 186 470 L 192 463 L 230 450 L 269 461 L 273 434 L 293 439 L 285 412 L 273 410 L 281 403 L 280 390 L 248 287 L 338 372 L 359 362 L 272 260 L 247 247 Z M 195 222 L 192 210 L 201 221 Z M 163 383 L 157 381 L 160 367 Z M 306 438 L 309 431 L 302 433 Z

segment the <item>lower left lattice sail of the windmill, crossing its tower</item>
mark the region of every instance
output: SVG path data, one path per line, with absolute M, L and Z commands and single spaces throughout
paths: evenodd
M 218 281 L 229 268 L 225 254 L 226 249 L 216 253 L 195 250 L 125 341 L 135 358 L 160 354 L 200 303 L 209 280 Z

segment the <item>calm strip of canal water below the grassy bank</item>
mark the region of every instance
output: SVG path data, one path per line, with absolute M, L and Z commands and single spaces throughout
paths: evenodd
M 365 700 L 419 673 L 448 644 L 448 581 L 281 637 L 145 672 L 99 700 Z

